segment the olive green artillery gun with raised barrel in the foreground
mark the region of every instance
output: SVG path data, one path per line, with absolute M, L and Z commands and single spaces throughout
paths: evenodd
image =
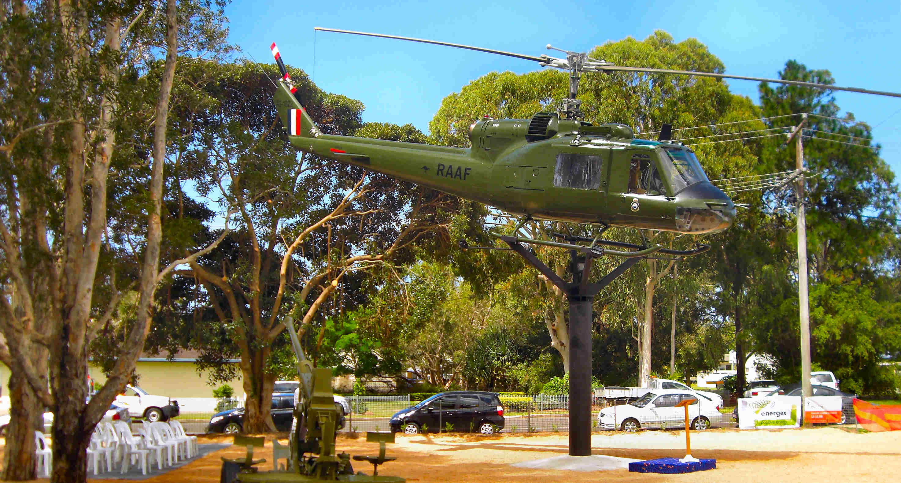
M 335 453 L 335 436 L 340 429 L 341 414 L 332 398 L 332 368 L 314 368 L 306 359 L 297 340 L 294 321 L 285 319 L 291 336 L 291 347 L 297 358 L 300 381 L 299 396 L 294 406 L 291 424 L 288 464 L 285 469 L 258 471 L 254 465 L 265 460 L 253 460 L 252 447 L 246 458 L 226 460 L 220 483 L 318 483 L 324 481 L 360 481 L 405 483 L 405 478 L 378 475 L 378 465 L 395 460 L 385 456 L 385 443 L 394 442 L 394 433 L 367 433 L 367 441 L 378 442 L 378 456 L 354 456 L 353 460 L 374 465 L 372 475 L 353 472 L 350 454 Z M 236 444 L 241 444 L 236 438 Z

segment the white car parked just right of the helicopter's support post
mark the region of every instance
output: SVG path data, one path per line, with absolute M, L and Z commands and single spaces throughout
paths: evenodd
M 628 405 L 610 406 L 601 409 L 597 415 L 597 425 L 602 429 L 638 431 L 641 428 L 682 428 L 685 427 L 685 409 L 676 405 L 686 399 L 696 399 L 688 406 L 691 429 L 703 431 L 718 426 L 723 415 L 714 403 L 681 389 L 653 389 L 639 400 Z

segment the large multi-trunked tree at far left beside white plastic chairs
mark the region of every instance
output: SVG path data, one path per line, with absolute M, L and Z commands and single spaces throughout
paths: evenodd
M 160 271 L 168 101 L 179 49 L 177 5 L 168 0 L 13 6 L 0 9 L 5 23 L 0 89 L 10 114 L 0 134 L 5 168 L 0 357 L 16 374 L 13 412 L 25 417 L 14 419 L 9 429 L 4 478 L 33 477 L 30 432 L 33 415 L 44 406 L 56 416 L 53 439 L 67 442 L 53 445 L 51 480 L 84 481 L 91 433 L 131 377 L 150 325 Z M 182 5 L 183 31 L 193 41 L 181 49 L 220 45 L 208 35 L 216 33 L 208 25 L 217 24 L 209 22 L 221 11 L 208 6 Z M 194 22 L 203 27 L 193 28 Z M 18 55 L 23 39 L 33 42 L 34 55 Z M 155 57 L 160 52 L 163 61 Z M 145 59 L 152 60 L 141 64 Z M 128 103 L 134 118 L 120 115 Z M 151 145 L 136 143 L 143 151 L 115 149 L 121 128 L 134 131 L 131 122 L 141 118 L 153 125 L 143 128 Z M 119 175 L 129 169 L 133 178 Z M 109 235 L 117 218 L 107 209 L 123 187 L 138 194 L 132 203 L 141 198 L 136 211 L 144 221 L 127 233 L 141 246 L 136 250 Z M 114 317 L 123 291 L 118 277 L 137 287 L 139 304 L 107 384 L 86 403 L 87 346 Z

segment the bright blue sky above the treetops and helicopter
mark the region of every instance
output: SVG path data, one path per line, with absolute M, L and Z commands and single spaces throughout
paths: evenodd
M 413 123 L 428 132 L 441 99 L 493 70 L 540 68 L 520 59 L 414 42 L 332 32 L 329 27 L 449 41 L 528 55 L 551 43 L 585 51 L 655 30 L 676 41 L 694 37 L 723 60 L 729 74 L 778 77 L 787 59 L 829 69 L 838 86 L 901 92 L 901 1 L 556 3 L 532 0 L 305 4 L 234 1 L 231 41 L 259 62 L 278 43 L 288 64 L 303 68 L 327 92 L 359 99 L 366 122 Z M 729 81 L 758 100 L 757 84 Z M 873 126 L 881 155 L 901 174 L 901 98 L 837 93 L 838 105 Z M 679 126 L 675 126 L 679 127 Z M 685 127 L 685 126 L 683 126 Z M 814 141 L 811 141 L 814 142 Z

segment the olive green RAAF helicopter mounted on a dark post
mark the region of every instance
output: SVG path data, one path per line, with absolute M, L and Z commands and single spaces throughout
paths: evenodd
M 722 232 L 735 218 L 733 200 L 710 182 L 694 150 L 671 141 L 671 126 L 664 124 L 657 141 L 636 139 L 632 128 L 620 123 L 595 125 L 583 121 L 577 99 L 583 72 L 652 72 L 687 76 L 737 78 L 760 82 L 847 90 L 865 94 L 901 97 L 901 94 L 857 87 L 836 87 L 801 81 L 742 77 L 710 72 L 614 66 L 592 59 L 585 52 L 566 53 L 565 59 L 548 55 L 529 56 L 443 41 L 396 35 L 353 32 L 315 27 L 388 39 L 417 41 L 468 50 L 495 53 L 539 62 L 543 67 L 569 71 L 569 98 L 564 113 L 542 112 L 530 119 L 485 117 L 469 126 L 470 148 L 456 148 L 383 141 L 326 134 L 306 113 L 275 43 L 271 45 L 282 78 L 273 101 L 288 140 L 299 150 L 326 159 L 377 171 L 395 178 L 495 206 L 522 216 L 519 228 L 531 220 L 588 223 L 678 232 L 692 235 Z M 492 233 L 497 238 L 502 235 Z M 637 256 L 645 245 L 573 237 L 555 233 L 567 242 L 539 241 L 516 237 L 517 241 L 584 250 L 576 242 L 591 242 L 633 249 L 605 251 L 623 257 Z M 461 244 L 462 248 L 463 245 Z M 485 248 L 485 247 L 482 247 Z M 694 255 L 703 250 L 662 250 L 670 255 Z

